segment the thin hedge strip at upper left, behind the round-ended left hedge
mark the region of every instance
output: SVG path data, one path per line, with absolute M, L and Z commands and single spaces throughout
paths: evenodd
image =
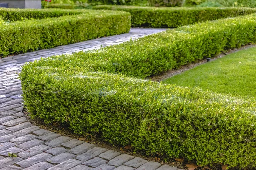
M 89 12 L 88 10 L 0 8 L 0 16 L 6 21 L 18 21 L 25 18 L 45 19 Z

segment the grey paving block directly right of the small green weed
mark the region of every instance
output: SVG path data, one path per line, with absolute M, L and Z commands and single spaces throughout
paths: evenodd
M 39 153 L 43 153 L 47 150 L 51 149 L 51 147 L 46 146 L 44 144 L 40 144 L 39 146 L 32 147 L 28 150 L 25 150 L 23 152 L 18 153 L 18 156 L 20 156 L 23 159 L 27 159 L 29 157 L 35 156 Z

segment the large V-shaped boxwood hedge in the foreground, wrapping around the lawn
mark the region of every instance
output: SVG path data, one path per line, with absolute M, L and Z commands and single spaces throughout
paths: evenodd
M 33 117 L 148 154 L 256 166 L 255 99 L 125 76 L 148 77 L 256 42 L 255 32 L 253 14 L 41 59 L 22 68 L 23 99 Z

